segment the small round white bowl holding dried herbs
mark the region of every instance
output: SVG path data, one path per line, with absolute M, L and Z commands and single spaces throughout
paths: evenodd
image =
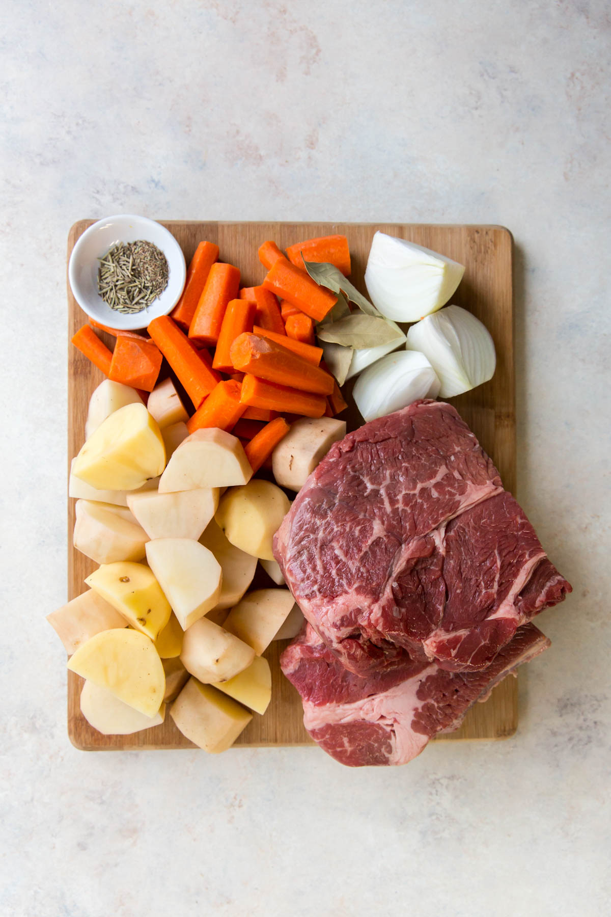
M 169 268 L 168 286 L 142 312 L 126 315 L 111 309 L 99 295 L 98 259 L 117 242 L 136 242 L 140 238 L 152 242 L 166 256 Z M 68 264 L 71 290 L 82 311 L 102 325 L 121 328 L 123 331 L 144 328 L 159 315 L 168 315 L 180 299 L 186 275 L 187 267 L 182 249 L 172 234 L 155 220 L 133 214 L 106 216 L 104 220 L 98 220 L 89 229 L 85 229 L 72 249 Z

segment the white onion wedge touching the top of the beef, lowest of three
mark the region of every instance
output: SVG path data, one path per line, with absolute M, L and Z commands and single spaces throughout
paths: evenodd
M 400 350 L 378 359 L 355 382 L 356 407 L 366 421 L 399 411 L 419 398 L 436 398 L 439 379 L 421 353 Z

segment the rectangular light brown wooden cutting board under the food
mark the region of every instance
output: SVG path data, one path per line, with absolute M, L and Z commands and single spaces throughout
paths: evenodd
M 463 305 L 486 324 L 496 346 L 494 378 L 473 392 L 451 399 L 466 423 L 475 431 L 486 452 L 494 459 L 507 490 L 516 486 L 515 381 L 513 355 L 513 299 L 511 282 L 512 238 L 501 226 L 422 226 L 403 224 L 355 223 L 195 223 L 164 222 L 178 239 L 187 263 L 202 239 L 221 249 L 221 259 L 242 271 L 244 286 L 262 282 L 265 270 L 256 251 L 265 239 L 278 242 L 281 249 L 301 239 L 344 233 L 352 255 L 351 280 L 364 293 L 363 276 L 371 239 L 377 229 L 407 238 L 428 249 L 439 251 L 465 265 L 464 279 L 452 302 Z M 68 257 L 76 240 L 93 220 L 81 220 L 71 228 Z M 87 316 L 68 289 L 69 340 L 84 325 Z M 102 337 L 105 337 L 102 335 Z M 106 341 L 110 343 L 110 339 Z M 82 446 L 87 406 L 93 389 L 103 380 L 79 350 L 69 344 L 68 356 L 68 465 Z M 353 409 L 349 426 L 362 423 Z M 68 511 L 68 591 L 73 599 L 85 591 L 83 580 L 95 568 L 93 561 L 72 547 L 74 500 Z M 272 701 L 264 716 L 255 716 L 237 739 L 238 746 L 313 745 L 302 724 L 300 697 L 282 675 L 278 657 L 286 642 L 273 643 L 266 652 L 272 670 Z M 191 742 L 180 735 L 171 717 L 163 725 L 136 735 L 101 735 L 83 718 L 79 708 L 82 679 L 68 672 L 68 733 L 71 742 L 82 750 L 129 748 L 189 748 Z M 438 741 L 456 739 L 499 739 L 513 735 L 518 724 L 517 680 L 505 679 L 486 703 L 477 703 L 457 732 L 442 735 Z

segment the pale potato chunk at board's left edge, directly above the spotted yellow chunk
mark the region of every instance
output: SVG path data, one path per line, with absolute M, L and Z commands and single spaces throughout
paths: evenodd
M 96 564 L 115 560 L 142 560 L 147 533 L 123 506 L 77 500 L 73 545 Z M 132 521 L 121 513 L 129 513 Z

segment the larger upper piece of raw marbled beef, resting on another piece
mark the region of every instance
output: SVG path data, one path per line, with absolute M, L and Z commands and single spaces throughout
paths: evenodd
M 570 586 L 452 405 L 420 401 L 336 443 L 278 530 L 307 620 L 345 668 L 486 668 Z

